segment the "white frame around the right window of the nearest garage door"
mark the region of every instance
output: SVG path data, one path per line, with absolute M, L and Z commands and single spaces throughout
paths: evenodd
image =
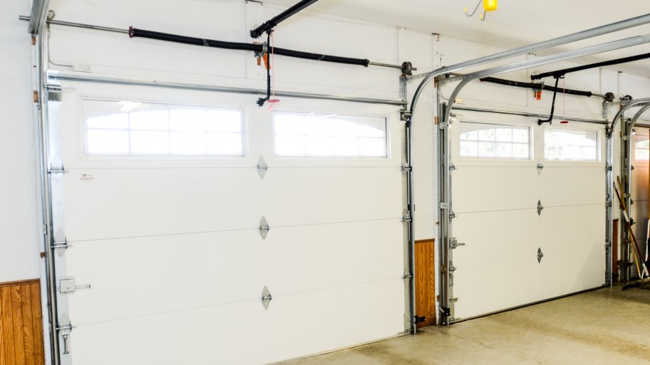
M 383 156 L 309 156 L 309 155 L 281 155 L 277 153 L 277 134 L 275 133 L 275 117 L 277 114 L 297 114 L 297 115 L 341 115 L 343 117 L 368 117 L 368 118 L 381 118 L 384 125 L 384 154 Z M 391 151 L 391 117 L 386 114 L 363 114 L 354 112 L 341 112 L 338 110 L 299 110 L 299 109 L 282 109 L 278 108 L 271 113 L 271 148 L 272 156 L 274 159 L 281 160 L 311 160 L 311 161 L 342 161 L 342 160 L 363 160 L 363 161 L 388 161 L 392 158 Z

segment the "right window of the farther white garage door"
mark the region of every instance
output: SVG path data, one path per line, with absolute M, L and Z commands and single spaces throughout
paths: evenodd
M 597 132 L 545 129 L 544 157 L 557 161 L 597 161 Z

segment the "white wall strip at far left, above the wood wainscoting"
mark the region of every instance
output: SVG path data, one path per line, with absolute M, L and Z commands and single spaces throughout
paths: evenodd
M 31 37 L 19 15 L 31 1 L 0 3 L 0 282 L 38 278 L 36 152 L 31 88 Z M 37 160 L 36 160 L 37 161 Z M 40 201 L 38 201 L 40 203 Z

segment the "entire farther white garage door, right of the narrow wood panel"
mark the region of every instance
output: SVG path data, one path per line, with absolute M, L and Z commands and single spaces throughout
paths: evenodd
M 605 281 L 604 128 L 490 117 L 451 127 L 453 321 Z

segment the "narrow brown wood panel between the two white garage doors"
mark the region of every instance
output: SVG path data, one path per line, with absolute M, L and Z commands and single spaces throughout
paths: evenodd
M 419 327 L 435 324 L 434 240 L 416 241 L 416 315 L 425 317 Z

